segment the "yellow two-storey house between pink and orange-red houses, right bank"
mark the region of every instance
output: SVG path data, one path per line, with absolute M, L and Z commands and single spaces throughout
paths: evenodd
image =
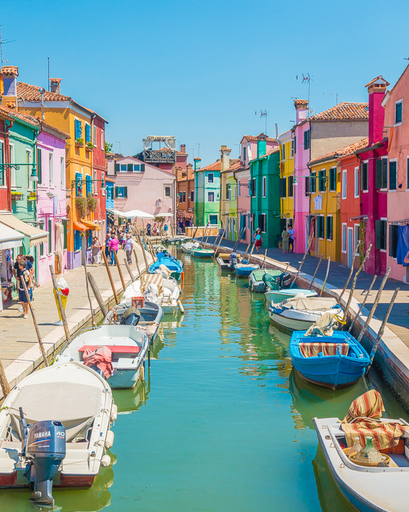
M 308 163 L 310 168 L 310 230 L 312 256 L 341 261 L 341 173 L 336 151 Z

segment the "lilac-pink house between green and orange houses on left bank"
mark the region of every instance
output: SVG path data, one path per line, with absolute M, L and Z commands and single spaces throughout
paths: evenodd
M 37 282 L 50 281 L 49 265 L 55 273 L 67 272 L 67 208 L 65 175 L 65 140 L 70 136 L 40 121 L 37 137 L 37 220 L 48 231 L 48 242 L 38 250 Z

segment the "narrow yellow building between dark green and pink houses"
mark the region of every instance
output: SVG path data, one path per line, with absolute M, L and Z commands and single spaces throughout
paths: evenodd
M 294 225 L 294 141 L 288 131 L 278 137 L 280 144 L 281 228 Z

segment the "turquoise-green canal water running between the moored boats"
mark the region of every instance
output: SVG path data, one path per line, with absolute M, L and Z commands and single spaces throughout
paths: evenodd
M 148 381 L 114 393 L 111 457 L 91 489 L 54 489 L 63 512 L 352 512 L 337 490 L 312 417 L 344 417 L 368 388 L 333 392 L 292 370 L 290 337 L 261 294 L 214 262 L 185 260 L 185 315 L 165 318 Z M 372 373 L 390 417 L 408 415 Z M 0 511 L 38 510 L 0 491 Z

